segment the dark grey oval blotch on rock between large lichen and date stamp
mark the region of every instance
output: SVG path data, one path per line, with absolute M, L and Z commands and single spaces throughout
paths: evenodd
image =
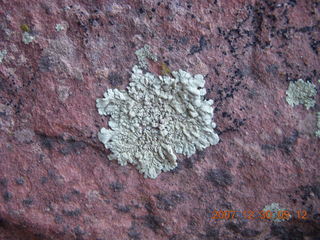
M 233 177 L 225 169 L 211 169 L 207 172 L 206 180 L 212 182 L 216 186 L 226 187 L 233 183 Z

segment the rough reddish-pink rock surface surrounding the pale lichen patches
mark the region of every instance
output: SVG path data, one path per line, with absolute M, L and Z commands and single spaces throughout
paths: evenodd
M 319 18 L 317 0 L 0 0 L 0 239 L 318 239 L 320 99 L 285 91 L 319 93 Z M 221 139 L 155 180 L 97 139 L 95 99 L 125 89 L 145 44 L 151 72 L 206 76 Z M 272 203 L 294 217 L 211 219 Z

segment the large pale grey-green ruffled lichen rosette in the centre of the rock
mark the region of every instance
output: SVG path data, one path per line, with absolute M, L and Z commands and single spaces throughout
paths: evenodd
M 134 164 L 145 177 L 174 169 L 176 154 L 189 157 L 219 141 L 203 76 L 182 70 L 172 76 L 134 66 L 127 90 L 108 89 L 96 101 L 99 114 L 111 116 L 110 129 L 98 134 L 112 152 L 109 159 Z

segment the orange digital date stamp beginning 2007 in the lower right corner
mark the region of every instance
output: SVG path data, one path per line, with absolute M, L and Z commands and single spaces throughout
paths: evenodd
M 270 210 L 262 211 L 235 211 L 235 210 L 213 210 L 211 219 L 235 219 L 235 218 L 244 218 L 244 219 L 261 219 L 261 220 L 278 220 L 285 221 L 291 218 L 307 220 L 308 213 L 306 210 L 297 210 L 297 211 L 288 211 L 288 210 L 279 210 L 277 212 Z

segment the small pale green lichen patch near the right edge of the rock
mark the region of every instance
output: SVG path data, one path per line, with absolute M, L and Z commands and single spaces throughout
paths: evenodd
M 303 104 L 307 109 L 313 107 L 316 103 L 314 96 L 317 94 L 316 86 L 310 82 L 299 79 L 296 82 L 290 82 L 286 91 L 287 103 L 294 107 Z

